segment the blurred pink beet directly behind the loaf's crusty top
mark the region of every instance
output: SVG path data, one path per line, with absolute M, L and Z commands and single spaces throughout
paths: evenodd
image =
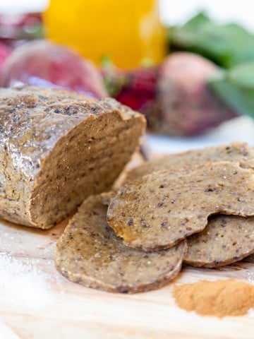
M 92 62 L 72 49 L 47 40 L 27 42 L 6 60 L 1 85 L 16 82 L 42 87 L 59 87 L 94 97 L 107 95 L 102 76 Z

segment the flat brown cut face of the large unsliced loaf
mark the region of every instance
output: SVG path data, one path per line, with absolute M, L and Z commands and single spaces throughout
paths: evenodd
M 111 189 L 143 133 L 143 119 L 118 112 L 82 121 L 44 160 L 32 192 L 32 224 L 49 228 L 92 194 Z

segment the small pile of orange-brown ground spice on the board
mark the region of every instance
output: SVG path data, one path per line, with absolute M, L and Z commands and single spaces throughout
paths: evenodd
M 254 285 L 240 280 L 200 281 L 174 287 L 176 304 L 203 316 L 243 316 L 254 307 Z

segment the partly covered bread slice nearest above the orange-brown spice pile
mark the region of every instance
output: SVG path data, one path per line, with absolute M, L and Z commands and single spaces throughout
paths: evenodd
M 196 267 L 229 265 L 254 253 L 254 218 L 216 215 L 200 233 L 187 238 L 184 261 Z

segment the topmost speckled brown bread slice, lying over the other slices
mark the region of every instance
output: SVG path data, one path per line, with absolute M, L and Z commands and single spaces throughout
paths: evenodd
M 253 175 L 234 162 L 152 172 L 120 189 L 107 221 L 129 246 L 169 248 L 204 230 L 209 215 L 253 215 Z

